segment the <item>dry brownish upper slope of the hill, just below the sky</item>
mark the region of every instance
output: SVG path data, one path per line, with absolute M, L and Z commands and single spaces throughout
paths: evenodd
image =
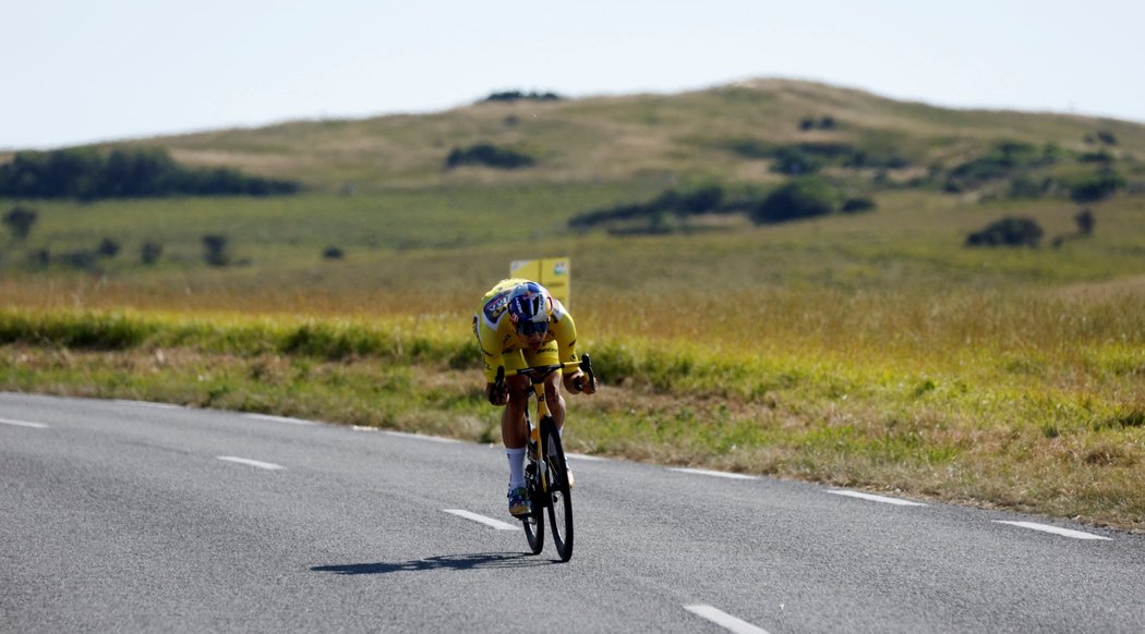
M 803 122 L 815 125 L 803 129 Z M 831 122 L 829 128 L 819 126 Z M 1099 135 L 1115 140 L 1103 144 Z M 776 182 L 751 148 L 819 144 L 866 152 L 894 179 L 953 167 L 998 142 L 1107 149 L 1145 157 L 1145 126 L 1065 114 L 950 110 L 793 80 L 756 80 L 678 95 L 481 102 L 424 116 L 298 121 L 159 137 L 192 166 L 238 167 L 326 191 L 472 183 Z M 536 159 L 527 169 L 445 171 L 450 152 L 479 143 Z M 741 151 L 737 151 L 739 148 Z M 748 151 L 744 152 L 743 150 Z M 868 169 L 871 177 L 876 168 Z M 1135 174 L 1142 174 L 1137 165 Z

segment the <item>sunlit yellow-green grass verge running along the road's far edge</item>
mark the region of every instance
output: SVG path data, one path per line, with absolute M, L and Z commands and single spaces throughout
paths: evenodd
M 499 411 L 464 328 L 447 325 L 457 320 L 6 309 L 0 389 L 498 443 Z M 608 385 L 569 398 L 571 451 L 1145 530 L 1139 347 L 1091 342 L 1074 363 L 965 350 L 919 366 L 586 343 Z

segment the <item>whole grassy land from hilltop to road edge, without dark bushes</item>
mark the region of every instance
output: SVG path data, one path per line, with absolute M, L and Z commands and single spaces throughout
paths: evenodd
M 837 128 L 799 130 L 824 114 Z M 1106 149 L 1126 185 L 1088 205 L 1092 235 L 1056 248 L 1076 231 L 1068 197 L 917 180 L 1000 141 L 1081 156 L 1096 130 L 1115 135 Z M 766 193 L 787 177 L 728 142 L 808 134 L 907 165 L 824 169 L 869 196 L 870 213 L 774 225 L 725 213 L 643 236 L 568 228 L 671 188 Z M 450 148 L 475 142 L 528 150 L 538 167 L 442 169 Z M 0 200 L 39 214 L 0 251 L 0 389 L 498 442 L 473 304 L 510 261 L 568 255 L 581 347 L 606 383 L 570 398 L 574 451 L 1145 530 L 1142 126 L 764 82 L 147 143 L 309 189 Z M 1061 160 L 1036 174 L 1089 169 Z M 1035 219 L 1042 245 L 964 246 L 1006 215 Z M 227 236 L 232 266 L 204 263 L 207 233 Z M 82 270 L 57 257 L 102 238 L 120 253 Z M 155 266 L 140 262 L 147 241 L 163 245 Z M 332 246 L 345 256 L 324 259 Z

